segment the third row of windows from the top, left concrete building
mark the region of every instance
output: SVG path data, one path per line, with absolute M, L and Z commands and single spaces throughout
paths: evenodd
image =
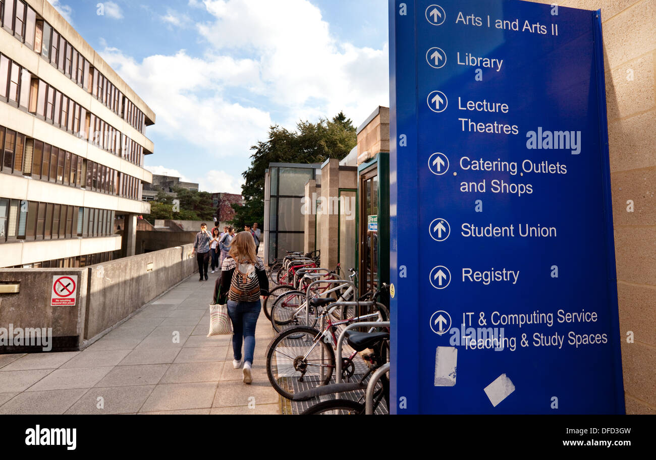
M 140 200 L 141 181 L 0 126 L 2 172 Z

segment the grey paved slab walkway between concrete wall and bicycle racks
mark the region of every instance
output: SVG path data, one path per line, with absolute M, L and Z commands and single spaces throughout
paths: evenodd
M 231 336 L 206 337 L 209 277 L 192 275 L 81 352 L 0 355 L 0 413 L 280 413 L 264 360 L 270 322 L 260 314 L 246 385 Z

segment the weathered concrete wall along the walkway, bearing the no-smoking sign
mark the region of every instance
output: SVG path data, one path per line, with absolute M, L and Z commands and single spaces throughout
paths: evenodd
M 20 284 L 20 292 L 0 294 L 0 353 L 43 351 L 16 341 L 8 345 L 9 330 L 17 328 L 52 328 L 54 351 L 84 348 L 197 271 L 193 248 L 186 244 L 77 269 L 0 269 L 0 284 Z M 51 306 L 54 275 L 77 275 L 75 305 Z

